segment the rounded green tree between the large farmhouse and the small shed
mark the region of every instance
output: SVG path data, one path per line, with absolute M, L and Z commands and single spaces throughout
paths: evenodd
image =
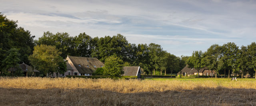
M 117 57 L 116 55 L 112 55 L 106 58 L 105 67 L 103 67 L 103 75 L 120 77 L 124 74 L 123 65 L 124 62 Z

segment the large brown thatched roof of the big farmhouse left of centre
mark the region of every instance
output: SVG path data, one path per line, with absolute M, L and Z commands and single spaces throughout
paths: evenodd
M 74 57 L 68 56 L 70 61 L 74 64 L 79 73 L 94 73 L 97 68 L 104 67 L 105 65 L 97 58 L 92 57 Z M 95 66 L 95 67 L 94 67 Z

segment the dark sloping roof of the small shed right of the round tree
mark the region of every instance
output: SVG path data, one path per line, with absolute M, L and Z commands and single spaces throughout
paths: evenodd
M 140 67 L 123 67 L 124 74 L 122 76 L 137 76 Z

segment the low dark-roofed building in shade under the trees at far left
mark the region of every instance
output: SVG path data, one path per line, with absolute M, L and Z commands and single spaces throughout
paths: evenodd
M 23 74 L 28 77 L 28 73 L 32 72 L 33 76 L 36 76 L 36 72 L 39 72 L 36 69 L 33 69 L 32 67 L 30 67 L 29 65 L 25 64 L 24 62 L 22 64 L 19 65 L 20 69 L 23 71 Z M 10 68 L 8 71 L 10 71 L 11 73 L 15 73 L 15 71 L 17 71 L 17 68 Z

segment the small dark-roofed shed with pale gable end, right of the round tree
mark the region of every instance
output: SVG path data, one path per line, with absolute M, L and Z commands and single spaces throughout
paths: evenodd
M 139 67 L 123 67 L 124 74 L 122 76 L 137 76 L 140 79 L 141 68 Z

